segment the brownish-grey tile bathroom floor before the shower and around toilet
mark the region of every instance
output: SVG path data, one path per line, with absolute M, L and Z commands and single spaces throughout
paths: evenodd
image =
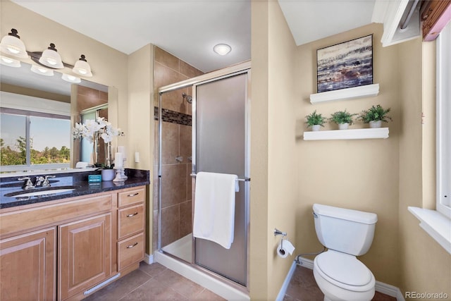
M 216 301 L 225 300 L 180 276 L 179 274 L 166 269 L 161 264 L 146 264 L 141 262 L 140 269 L 132 271 L 107 285 L 105 288 L 85 298 L 85 301 L 153 301 L 153 300 L 202 300 Z M 285 301 L 323 301 L 323 293 L 316 285 L 313 271 L 303 266 L 297 266 L 293 274 L 290 285 L 283 299 Z M 390 297 L 383 293 L 376 292 L 373 301 L 396 301 L 395 297 Z

